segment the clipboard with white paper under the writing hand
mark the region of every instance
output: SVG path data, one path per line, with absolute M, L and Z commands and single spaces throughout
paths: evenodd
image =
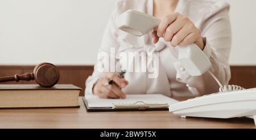
M 84 97 L 87 111 L 163 111 L 177 102 L 160 94 L 126 95 L 126 99 L 101 99 L 96 95 Z

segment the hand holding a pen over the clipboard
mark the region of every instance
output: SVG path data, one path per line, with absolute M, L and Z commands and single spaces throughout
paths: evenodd
M 113 84 L 106 85 L 110 80 L 113 80 Z M 104 73 L 104 75 L 94 84 L 93 94 L 107 99 L 125 99 L 126 95 L 121 89 L 125 88 L 127 84 L 127 80 L 118 77 L 115 73 Z

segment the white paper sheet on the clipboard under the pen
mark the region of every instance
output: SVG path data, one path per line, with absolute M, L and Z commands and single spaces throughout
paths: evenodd
M 126 99 L 101 99 L 96 95 L 86 95 L 89 108 L 112 108 L 113 104 L 133 104 L 143 101 L 146 104 L 174 104 L 179 101 L 161 94 L 126 95 Z

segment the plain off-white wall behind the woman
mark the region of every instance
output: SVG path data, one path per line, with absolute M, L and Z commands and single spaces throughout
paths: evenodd
M 92 65 L 114 1 L 0 0 L 0 64 Z M 225 1 L 232 7 L 230 64 L 256 65 L 256 1 Z

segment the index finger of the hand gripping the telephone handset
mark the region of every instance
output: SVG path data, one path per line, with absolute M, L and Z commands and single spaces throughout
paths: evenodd
M 177 18 L 177 14 L 170 14 L 167 15 L 159 24 L 158 30 L 157 30 L 157 35 L 158 37 L 162 37 L 164 32 L 166 31 L 167 27 L 173 23 Z

